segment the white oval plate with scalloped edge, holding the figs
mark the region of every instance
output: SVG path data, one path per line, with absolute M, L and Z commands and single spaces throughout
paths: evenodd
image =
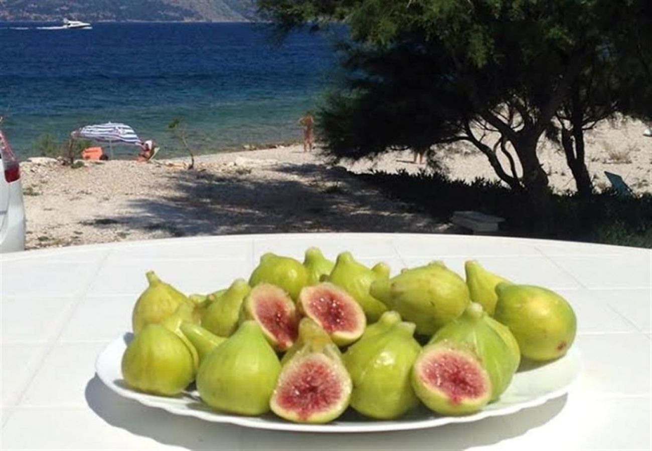
M 348 409 L 344 415 L 329 424 L 295 424 L 287 422 L 272 413 L 263 416 L 223 415 L 203 404 L 197 390 L 184 392 L 175 398 L 165 398 L 135 392 L 127 388 L 120 368 L 122 355 L 126 349 L 126 340 L 130 334 L 116 338 L 98 356 L 95 369 L 98 377 L 125 398 L 136 400 L 144 405 L 158 407 L 175 415 L 196 416 L 202 420 L 218 423 L 231 423 L 247 428 L 273 429 L 277 431 L 300 432 L 374 432 L 401 431 L 442 426 L 449 423 L 465 423 L 481 420 L 489 416 L 509 415 L 511 413 L 534 407 L 567 393 L 569 386 L 579 375 L 582 364 L 580 355 L 571 348 L 567 355 L 559 360 L 535 366 L 521 368 L 503 396 L 482 411 L 467 416 L 439 416 L 425 407 L 416 409 L 398 420 L 370 420 Z

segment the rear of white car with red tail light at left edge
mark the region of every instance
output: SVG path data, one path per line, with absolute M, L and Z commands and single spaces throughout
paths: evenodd
M 0 117 L 1 121 L 1 117 Z M 0 252 L 25 249 L 25 205 L 20 166 L 0 130 Z

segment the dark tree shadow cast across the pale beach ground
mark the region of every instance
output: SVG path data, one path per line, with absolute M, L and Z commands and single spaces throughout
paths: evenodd
M 174 194 L 128 201 L 130 213 L 104 218 L 127 229 L 172 236 L 291 232 L 437 233 L 445 226 L 383 196 L 346 169 L 277 165 L 277 177 L 233 171 L 174 171 L 162 184 Z M 96 227 L 106 227 L 101 221 Z

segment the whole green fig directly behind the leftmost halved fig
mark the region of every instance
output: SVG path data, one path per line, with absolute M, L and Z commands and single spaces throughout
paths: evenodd
M 260 257 L 249 284 L 252 287 L 265 283 L 276 285 L 287 291 L 291 298 L 297 299 L 301 289 L 308 285 L 308 279 L 308 270 L 299 261 L 268 252 Z

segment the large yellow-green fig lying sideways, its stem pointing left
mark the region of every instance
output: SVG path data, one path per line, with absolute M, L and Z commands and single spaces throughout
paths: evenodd
M 369 293 L 417 325 L 417 334 L 432 335 L 464 312 L 470 302 L 464 280 L 443 263 L 403 270 L 374 282 Z

